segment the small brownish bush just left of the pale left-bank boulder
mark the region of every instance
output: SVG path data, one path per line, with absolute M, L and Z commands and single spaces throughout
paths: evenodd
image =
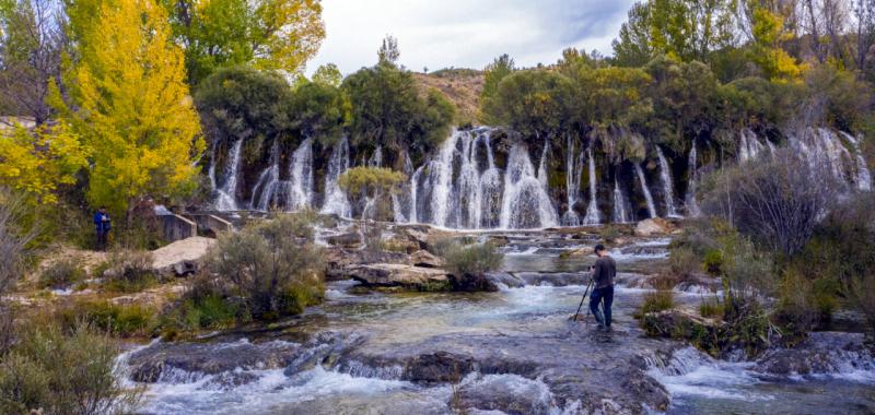
M 104 287 L 114 292 L 133 293 L 156 282 L 152 271 L 152 253 L 148 251 L 120 250 L 109 257 L 112 264 L 103 273 Z

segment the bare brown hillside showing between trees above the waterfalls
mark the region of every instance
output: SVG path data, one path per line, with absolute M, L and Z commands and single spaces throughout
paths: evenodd
M 483 90 L 483 72 L 474 69 L 442 69 L 432 73 L 413 73 L 420 87 L 438 88 L 456 108 L 457 123 L 477 121 L 480 92 Z

